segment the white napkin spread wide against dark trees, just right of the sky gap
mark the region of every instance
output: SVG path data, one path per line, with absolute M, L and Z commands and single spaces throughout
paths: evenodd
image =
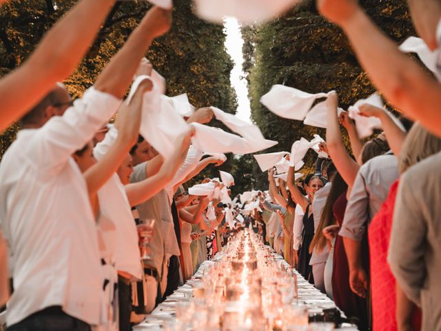
M 280 117 L 303 121 L 314 101 L 322 97 L 327 97 L 327 93 L 309 94 L 296 88 L 274 85 L 260 98 L 260 102 Z

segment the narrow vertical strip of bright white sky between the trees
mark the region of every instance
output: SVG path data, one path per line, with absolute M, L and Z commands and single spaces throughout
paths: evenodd
M 225 48 L 230 57 L 234 61 L 234 68 L 229 76 L 238 99 L 238 108 L 236 116 L 244 121 L 251 121 L 251 108 L 249 106 L 247 79 L 242 70 L 243 64 L 243 39 L 242 32 L 240 32 L 240 25 L 234 17 L 226 17 L 224 20 L 225 34 Z

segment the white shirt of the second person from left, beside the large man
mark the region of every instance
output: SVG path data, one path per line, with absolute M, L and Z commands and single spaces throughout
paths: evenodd
M 100 160 L 114 143 L 118 131 L 112 126 L 105 138 L 94 148 L 94 157 Z M 117 174 L 98 191 L 101 211 L 116 226 L 115 259 L 116 270 L 127 272 L 142 279 L 141 254 L 138 248 L 138 231 L 132 215 L 125 188 Z

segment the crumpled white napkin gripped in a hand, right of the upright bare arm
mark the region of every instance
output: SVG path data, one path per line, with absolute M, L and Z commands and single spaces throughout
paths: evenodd
M 356 122 L 356 128 L 358 132 L 358 137 L 366 138 L 373 133 L 373 129 L 381 129 L 382 124 L 380 119 L 376 117 L 364 117 L 360 115 L 360 110 L 358 109 L 364 103 L 368 103 L 372 106 L 378 108 L 383 108 L 383 103 L 381 97 L 378 93 L 372 94 L 367 99 L 360 99 L 353 106 L 348 108 L 349 117 Z

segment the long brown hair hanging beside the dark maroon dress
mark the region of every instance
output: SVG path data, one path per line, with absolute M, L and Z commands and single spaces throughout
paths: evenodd
M 325 207 L 323 207 L 320 223 L 318 223 L 314 238 L 311 241 L 311 245 L 309 245 L 309 252 L 312 252 L 314 247 L 316 248 L 316 252 L 322 252 L 322 250 L 325 248 L 327 239 L 323 235 L 322 231 L 327 226 L 334 225 L 336 223 L 336 219 L 334 217 L 334 203 L 336 203 L 340 195 L 344 194 L 347 190 L 347 183 L 342 179 L 340 173 L 338 172 L 336 172 L 332 177 L 331 183 L 331 190 L 329 190 Z

